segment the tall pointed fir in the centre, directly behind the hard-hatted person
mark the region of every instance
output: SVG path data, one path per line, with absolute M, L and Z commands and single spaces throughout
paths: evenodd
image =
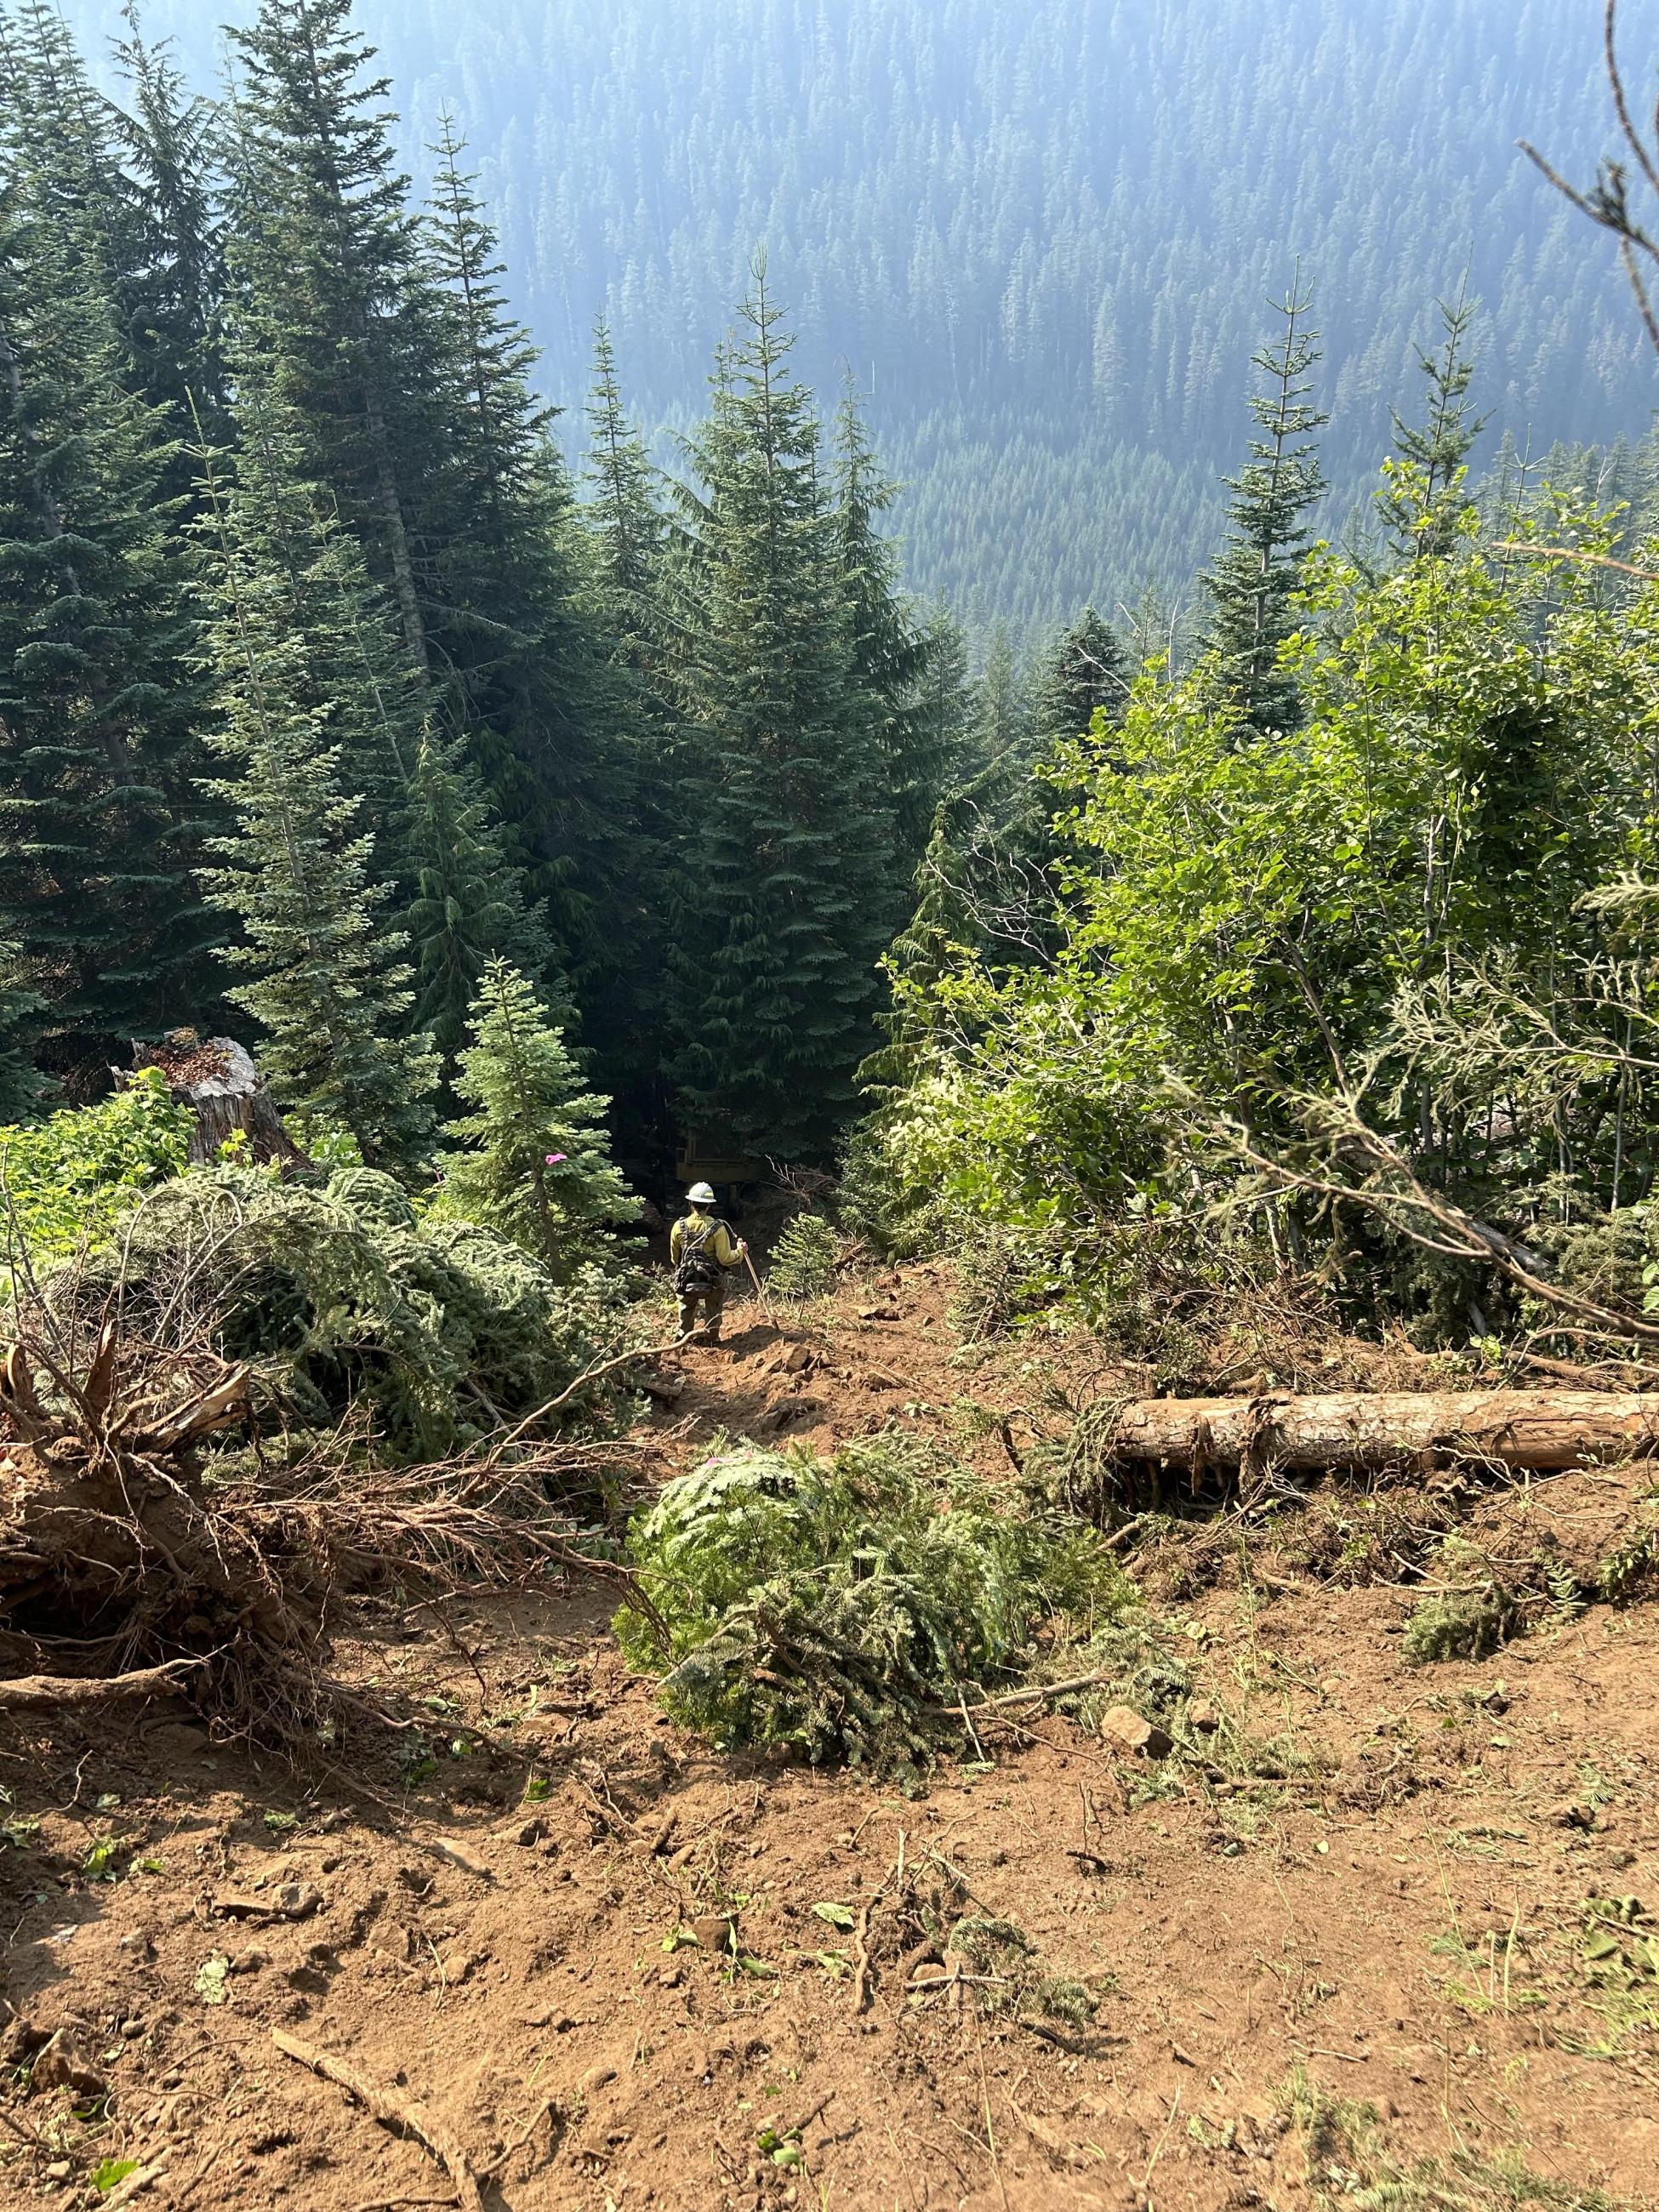
M 823 1157 L 874 1042 L 894 801 L 790 343 L 761 261 L 681 498 L 670 1073 L 697 1126 Z

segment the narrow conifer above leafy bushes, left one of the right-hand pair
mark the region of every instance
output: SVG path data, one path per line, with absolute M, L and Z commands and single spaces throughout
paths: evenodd
M 1285 319 L 1283 334 L 1252 356 L 1263 392 L 1250 400 L 1250 414 L 1261 436 L 1250 442 L 1243 473 L 1225 480 L 1232 533 L 1203 577 L 1212 606 L 1210 648 L 1256 730 L 1287 730 L 1301 717 L 1296 684 L 1279 668 L 1279 648 L 1296 628 L 1290 602 L 1312 542 L 1307 518 L 1325 495 L 1314 434 L 1329 420 L 1307 398 L 1312 369 L 1323 358 L 1318 332 L 1307 327 L 1312 292 L 1296 281 L 1272 305 Z

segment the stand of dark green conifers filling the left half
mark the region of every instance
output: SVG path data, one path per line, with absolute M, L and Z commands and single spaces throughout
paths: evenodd
M 566 1029 L 635 1159 L 827 1157 L 969 712 L 856 403 L 757 257 L 679 480 L 608 365 L 573 478 L 349 0 L 268 0 L 234 66 L 215 106 L 131 42 L 113 106 L 0 11 L 7 1104 L 252 1022 L 310 1141 L 427 1175 L 447 1126 L 549 1263 L 626 1212 Z

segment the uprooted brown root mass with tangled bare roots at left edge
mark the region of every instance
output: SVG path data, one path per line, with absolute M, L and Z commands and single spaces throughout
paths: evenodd
M 0 1710 L 170 1690 L 232 1734 L 299 1750 L 356 1703 L 327 1679 L 343 1593 L 606 1566 L 549 1502 L 591 1480 L 580 1442 L 502 1440 L 398 1471 L 345 1440 L 265 1460 L 246 1365 L 124 1336 L 113 1318 L 77 1327 L 49 1303 L 13 1325 Z M 234 1429 L 248 1442 L 226 1451 Z

